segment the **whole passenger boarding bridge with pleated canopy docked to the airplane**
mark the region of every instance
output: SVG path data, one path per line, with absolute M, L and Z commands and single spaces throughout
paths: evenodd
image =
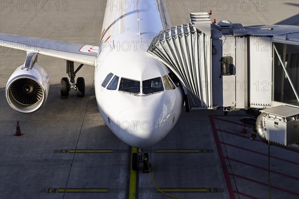
M 180 79 L 186 111 L 262 109 L 257 133 L 299 152 L 299 27 L 244 27 L 208 13 L 162 30 L 148 52 Z

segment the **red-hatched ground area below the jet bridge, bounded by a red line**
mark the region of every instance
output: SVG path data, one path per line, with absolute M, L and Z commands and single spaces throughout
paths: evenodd
M 243 124 L 239 119 L 242 117 L 209 116 L 230 199 L 270 198 L 268 146 L 259 139 L 256 139 L 257 143 L 249 140 L 251 127 L 248 127 L 248 134 L 241 133 Z M 299 159 L 296 157 L 299 155 L 295 152 L 270 147 L 272 199 L 299 198 Z M 239 168 L 233 165 L 239 165 Z M 251 175 L 247 171 L 257 171 L 257 174 Z

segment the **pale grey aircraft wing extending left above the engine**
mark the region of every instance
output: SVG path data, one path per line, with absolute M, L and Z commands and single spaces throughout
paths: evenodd
M 0 46 L 36 51 L 52 57 L 94 66 L 98 46 L 0 33 Z

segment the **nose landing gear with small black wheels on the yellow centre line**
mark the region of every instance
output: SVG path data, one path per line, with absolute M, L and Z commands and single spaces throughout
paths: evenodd
M 137 153 L 132 155 L 132 169 L 138 171 L 138 165 L 143 164 L 143 173 L 149 173 L 149 154 L 144 153 L 141 148 L 138 148 Z

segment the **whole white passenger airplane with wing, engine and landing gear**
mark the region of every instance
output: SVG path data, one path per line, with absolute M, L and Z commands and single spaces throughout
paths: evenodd
M 70 90 L 85 95 L 84 78 L 75 83 L 75 76 L 83 64 L 92 65 L 100 114 L 120 140 L 139 149 L 142 160 L 142 149 L 166 137 L 184 104 L 179 79 L 147 52 L 153 37 L 172 24 L 160 0 L 107 1 L 106 5 L 99 47 L 1 33 L 1 46 L 27 52 L 24 64 L 8 79 L 6 99 L 21 113 L 45 104 L 49 74 L 37 64 L 38 54 L 67 60 L 69 78 L 61 79 L 61 98 L 68 97 Z M 76 70 L 74 62 L 81 63 Z

